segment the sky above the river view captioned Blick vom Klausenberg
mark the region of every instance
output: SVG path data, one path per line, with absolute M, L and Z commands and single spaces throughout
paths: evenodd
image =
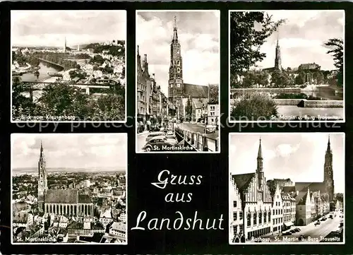
M 126 40 L 126 11 L 11 11 L 13 46 L 67 47 Z

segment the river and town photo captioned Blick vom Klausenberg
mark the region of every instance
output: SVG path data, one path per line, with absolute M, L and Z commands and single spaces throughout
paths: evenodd
M 126 120 L 126 11 L 11 11 L 11 53 L 11 121 Z

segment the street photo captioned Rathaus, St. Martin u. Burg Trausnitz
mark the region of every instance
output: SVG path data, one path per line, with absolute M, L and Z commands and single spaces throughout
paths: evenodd
M 344 133 L 230 134 L 229 173 L 229 244 L 345 244 Z

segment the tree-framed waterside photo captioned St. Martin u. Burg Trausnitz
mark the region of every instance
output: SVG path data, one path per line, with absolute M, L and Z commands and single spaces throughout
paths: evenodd
M 230 121 L 345 121 L 344 37 L 344 10 L 230 11 Z

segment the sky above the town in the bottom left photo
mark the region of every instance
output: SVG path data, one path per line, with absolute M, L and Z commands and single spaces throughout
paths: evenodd
M 47 167 L 127 167 L 126 134 L 12 134 L 12 168 L 37 167 L 40 141 Z

